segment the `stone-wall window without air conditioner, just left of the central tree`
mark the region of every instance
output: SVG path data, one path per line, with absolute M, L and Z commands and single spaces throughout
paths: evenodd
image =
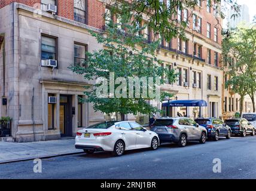
M 86 66 L 87 45 L 74 44 L 74 66 Z

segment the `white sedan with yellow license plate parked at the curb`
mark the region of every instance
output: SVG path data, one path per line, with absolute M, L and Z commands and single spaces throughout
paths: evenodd
M 77 131 L 75 148 L 86 153 L 111 151 L 115 156 L 125 150 L 159 147 L 159 137 L 132 121 L 106 121 Z

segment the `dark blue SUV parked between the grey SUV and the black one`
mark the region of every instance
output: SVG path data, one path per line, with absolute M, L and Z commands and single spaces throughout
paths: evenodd
M 231 128 L 228 127 L 223 121 L 217 118 L 198 118 L 194 121 L 197 124 L 203 126 L 207 130 L 208 138 L 213 138 L 215 141 L 219 140 L 219 137 L 226 137 L 227 139 L 231 136 Z

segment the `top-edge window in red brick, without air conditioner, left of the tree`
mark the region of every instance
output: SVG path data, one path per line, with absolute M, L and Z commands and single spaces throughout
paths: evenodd
M 86 23 L 86 0 L 74 0 L 74 19 Z

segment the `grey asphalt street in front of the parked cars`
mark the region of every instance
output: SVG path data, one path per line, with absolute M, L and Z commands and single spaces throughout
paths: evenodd
M 220 159 L 221 172 L 214 172 Z M 218 163 L 220 164 L 220 163 Z M 256 136 L 164 144 L 158 150 L 140 149 L 114 157 L 107 152 L 42 159 L 42 172 L 33 161 L 0 165 L 0 178 L 256 178 Z M 220 171 L 220 166 L 218 168 Z

